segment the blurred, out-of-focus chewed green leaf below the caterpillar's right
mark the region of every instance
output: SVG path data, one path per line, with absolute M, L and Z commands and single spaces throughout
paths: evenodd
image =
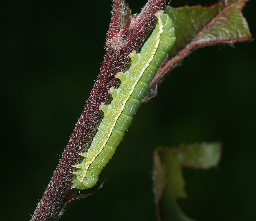
M 159 220 L 191 220 L 179 208 L 176 199 L 186 198 L 182 167 L 209 169 L 220 161 L 221 144 L 158 147 L 154 152 L 154 195 Z

